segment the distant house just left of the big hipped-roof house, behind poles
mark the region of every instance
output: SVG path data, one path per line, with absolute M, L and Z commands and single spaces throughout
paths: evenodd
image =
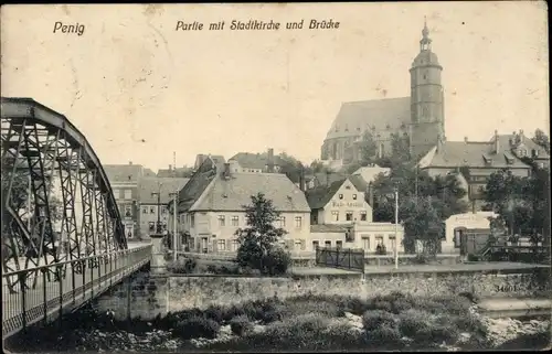
M 138 191 L 140 210 L 139 233 L 141 239 L 149 239 L 149 235 L 157 232 L 158 214 L 160 215 L 161 230 L 172 230 L 173 227 L 168 225 L 168 204 L 189 180 L 180 178 L 140 179 Z

